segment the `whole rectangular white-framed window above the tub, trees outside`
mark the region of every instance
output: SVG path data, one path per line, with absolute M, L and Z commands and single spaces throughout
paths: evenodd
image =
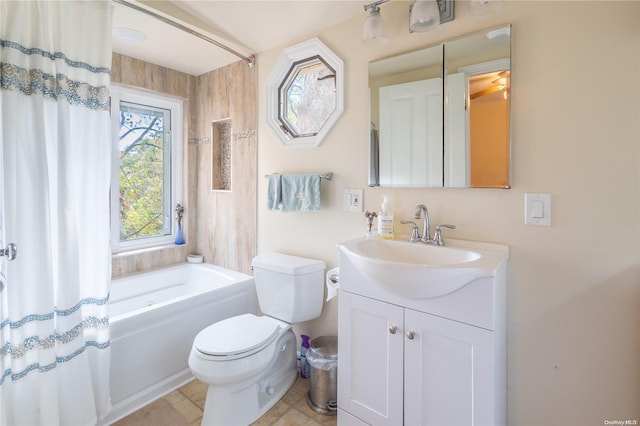
M 112 86 L 114 252 L 170 244 L 182 189 L 182 103 Z

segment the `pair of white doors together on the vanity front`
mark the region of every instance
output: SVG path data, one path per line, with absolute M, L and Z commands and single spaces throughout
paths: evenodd
M 338 406 L 361 424 L 494 424 L 493 332 L 348 292 L 339 318 Z

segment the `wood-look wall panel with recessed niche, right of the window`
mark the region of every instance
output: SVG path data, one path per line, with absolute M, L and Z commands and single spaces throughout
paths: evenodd
M 205 261 L 249 273 L 256 252 L 256 70 L 236 62 L 197 78 L 197 250 Z M 211 190 L 212 128 L 231 121 L 231 190 Z

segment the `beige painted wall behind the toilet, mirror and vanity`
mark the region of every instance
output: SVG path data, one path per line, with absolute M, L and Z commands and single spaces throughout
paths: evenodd
M 458 226 L 448 236 L 511 247 L 508 423 L 640 421 L 640 3 L 505 1 L 473 16 L 457 2 L 455 21 L 425 34 L 408 34 L 408 5 L 382 6 L 385 44 L 362 44 L 364 13 L 309 35 L 346 69 L 345 112 L 318 148 L 284 149 L 267 127 L 264 82 L 281 49 L 259 56 L 258 176 L 335 177 L 322 183 L 317 213 L 268 211 L 258 179 L 258 252 L 336 266 L 336 243 L 365 232 L 361 213 L 342 210 L 344 188 L 365 189 L 367 210 L 388 195 L 397 228 L 425 203 L 433 223 Z M 512 189 L 368 188 L 367 62 L 504 23 L 513 24 Z M 552 194 L 553 226 L 524 225 L 525 192 Z M 337 299 L 296 327 L 336 328 Z

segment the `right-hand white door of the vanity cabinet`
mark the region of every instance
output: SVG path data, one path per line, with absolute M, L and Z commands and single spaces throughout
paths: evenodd
M 493 425 L 493 333 L 405 310 L 405 425 Z

